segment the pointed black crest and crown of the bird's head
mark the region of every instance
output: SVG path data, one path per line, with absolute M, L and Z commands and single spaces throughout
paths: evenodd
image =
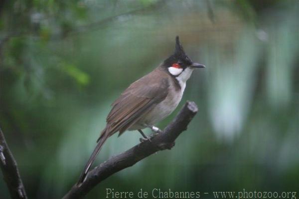
M 166 67 L 170 67 L 173 63 L 180 62 L 182 67 L 186 67 L 191 64 L 191 59 L 186 55 L 182 44 L 179 42 L 179 37 L 175 37 L 175 50 L 172 55 L 170 55 L 167 59 L 164 60 L 163 65 Z

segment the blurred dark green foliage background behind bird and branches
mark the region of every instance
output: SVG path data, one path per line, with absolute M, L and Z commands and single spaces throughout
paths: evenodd
M 207 67 L 158 126 L 186 100 L 198 114 L 171 151 L 86 198 L 103 198 L 106 188 L 299 192 L 297 0 L 2 0 L 0 125 L 30 198 L 71 188 L 110 104 L 173 52 L 176 35 Z M 96 163 L 139 138 L 111 137 Z M 0 198 L 8 197 L 0 180 Z

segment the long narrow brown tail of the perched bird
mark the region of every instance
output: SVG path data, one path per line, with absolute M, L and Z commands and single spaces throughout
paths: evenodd
M 97 146 L 92 152 L 87 164 L 84 167 L 84 170 L 79 178 L 79 181 L 77 183 L 77 186 L 82 184 L 87 176 L 87 173 L 92 165 L 92 163 L 95 161 L 97 155 L 99 154 L 100 150 L 102 149 L 103 144 L 106 142 L 107 138 L 109 137 L 109 132 L 107 131 L 107 127 L 102 131 L 100 138 L 97 141 Z

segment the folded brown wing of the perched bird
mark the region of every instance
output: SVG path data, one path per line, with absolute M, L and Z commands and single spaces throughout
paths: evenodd
M 166 97 L 169 84 L 165 75 L 161 70 L 152 71 L 132 83 L 112 104 L 107 116 L 110 136 L 118 131 L 121 135 Z

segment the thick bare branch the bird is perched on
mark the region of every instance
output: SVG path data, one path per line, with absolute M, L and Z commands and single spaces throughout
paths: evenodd
M 171 149 L 174 146 L 175 139 L 187 129 L 187 125 L 196 113 L 196 104 L 194 102 L 187 102 L 162 133 L 152 138 L 151 141 L 140 143 L 94 168 L 89 172 L 82 185 L 78 187 L 74 185 L 63 199 L 81 199 L 97 184 L 111 175 L 135 165 L 157 151 Z

